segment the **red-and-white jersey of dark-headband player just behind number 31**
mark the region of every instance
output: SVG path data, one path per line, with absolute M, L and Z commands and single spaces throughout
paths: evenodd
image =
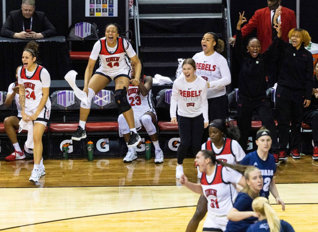
M 215 157 L 223 162 L 237 164 L 245 157 L 245 152 L 236 140 L 224 138 L 223 147 L 218 149 L 211 140 L 202 144 L 202 150 L 213 150 Z

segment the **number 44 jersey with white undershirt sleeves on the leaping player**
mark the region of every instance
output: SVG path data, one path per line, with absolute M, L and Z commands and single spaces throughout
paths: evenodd
M 97 60 L 100 57 L 100 68 L 106 73 L 117 73 L 121 70 L 131 70 L 130 63 L 126 54 L 129 57 L 136 55 L 133 47 L 122 37 L 117 38 L 117 44 L 114 48 L 107 45 L 106 37 L 97 41 L 93 47 L 89 58 Z

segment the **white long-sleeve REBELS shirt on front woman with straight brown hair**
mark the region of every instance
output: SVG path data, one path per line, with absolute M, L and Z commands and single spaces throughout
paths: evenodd
M 206 93 L 206 81 L 200 76 L 197 76 L 193 82 L 187 82 L 185 77 L 177 78 L 172 86 L 170 117 L 176 117 L 178 106 L 179 116 L 193 118 L 203 114 L 204 123 L 208 123 L 208 100 Z

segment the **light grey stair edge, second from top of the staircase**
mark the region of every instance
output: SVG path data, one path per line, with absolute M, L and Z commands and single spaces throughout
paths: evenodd
M 134 18 L 130 16 L 129 18 Z M 222 18 L 222 13 L 139 14 L 140 19 Z

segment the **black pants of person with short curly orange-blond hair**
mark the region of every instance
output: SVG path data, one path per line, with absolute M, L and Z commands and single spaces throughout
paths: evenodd
M 299 149 L 300 128 L 304 116 L 304 95 L 305 93 L 303 95 L 295 94 L 292 89 L 277 85 L 275 105 L 277 111 L 279 146 L 282 151 L 288 151 L 288 142 L 290 150 Z M 291 131 L 290 135 L 289 129 Z

